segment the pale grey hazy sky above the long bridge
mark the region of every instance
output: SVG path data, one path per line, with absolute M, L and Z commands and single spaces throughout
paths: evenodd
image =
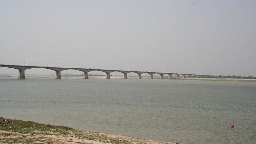
M 256 76 L 255 26 L 255 0 L 0 0 L 0 60 Z

